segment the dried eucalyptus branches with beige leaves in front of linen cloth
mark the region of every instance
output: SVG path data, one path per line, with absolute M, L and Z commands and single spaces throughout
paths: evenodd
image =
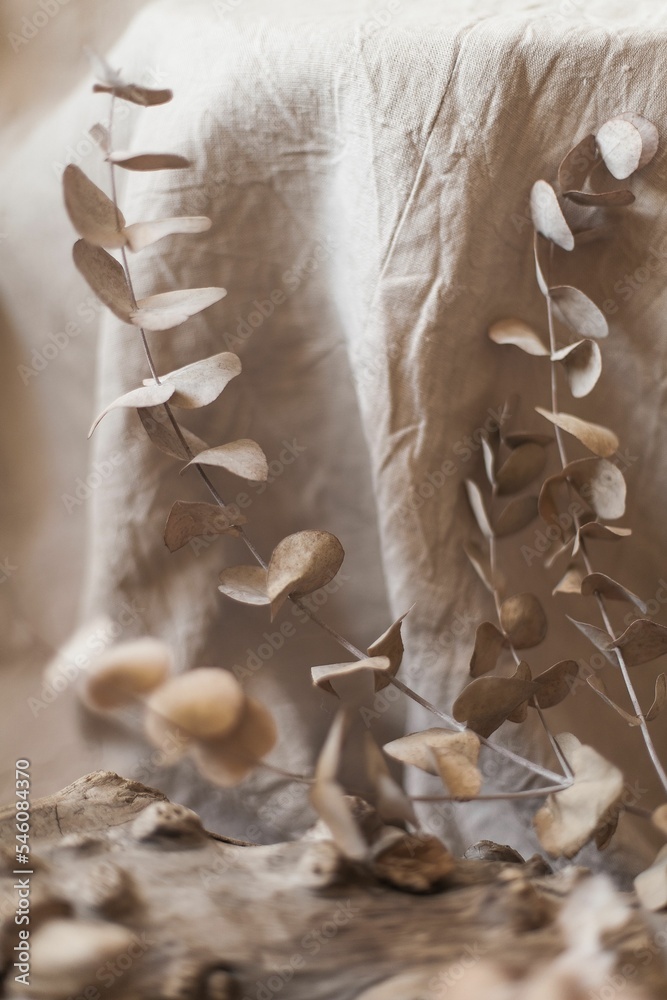
M 357 648 L 323 621 L 303 597 L 329 583 L 344 557 L 340 541 L 327 531 L 300 531 L 281 539 L 270 558 L 264 559 L 246 533 L 245 518 L 225 505 L 211 470 L 222 469 L 241 478 L 261 482 L 267 479 L 267 462 L 255 441 L 243 439 L 209 447 L 181 426 L 175 410 L 189 410 L 212 403 L 228 383 L 241 372 L 239 358 L 230 352 L 194 361 L 166 374 L 158 373 L 147 334 L 169 330 L 218 302 L 222 288 L 174 290 L 137 298 L 132 282 L 128 252 L 136 253 L 173 234 L 197 234 L 211 223 L 202 217 L 160 219 L 127 225 L 116 192 L 116 171 L 186 169 L 189 162 L 171 153 L 120 152 L 113 145 L 113 116 L 117 100 L 151 107 L 171 99 L 168 90 L 153 90 L 124 81 L 104 61 L 98 60 L 99 82 L 94 90 L 110 95 L 109 124 L 97 124 L 91 134 L 109 165 L 110 196 L 93 184 L 75 166 L 64 174 L 64 192 L 70 219 L 81 239 L 74 247 L 74 261 L 97 297 L 123 322 L 136 327 L 150 372 L 142 385 L 132 388 L 110 403 L 95 420 L 115 408 L 136 409 L 153 444 L 198 475 L 212 502 L 177 500 L 169 513 L 164 541 L 172 552 L 202 535 L 233 535 L 245 543 L 252 563 L 224 569 L 219 590 L 244 604 L 267 606 L 271 619 L 286 601 L 332 635 L 347 654 L 344 662 L 318 665 L 312 669 L 313 684 L 340 699 L 322 752 L 312 775 L 293 775 L 265 760 L 277 734 L 268 710 L 247 697 L 236 678 L 227 670 L 195 668 L 174 675 L 169 649 L 161 642 L 143 638 L 123 643 L 101 657 L 86 681 L 84 697 L 97 711 L 115 711 L 139 701 L 145 709 L 145 729 L 156 746 L 169 744 L 173 755 L 189 752 L 202 773 L 220 786 L 242 781 L 258 767 L 271 768 L 284 777 L 311 786 L 311 802 L 318 811 L 338 849 L 356 862 L 383 865 L 383 877 L 397 885 L 415 888 L 414 872 L 423 861 L 421 890 L 442 877 L 448 854 L 435 838 L 420 831 L 414 804 L 419 801 L 463 801 L 469 799 L 535 798 L 546 801 L 535 816 L 540 841 L 550 854 L 571 857 L 594 839 L 604 846 L 613 834 L 621 809 L 623 775 L 592 747 L 575 737 L 554 736 L 545 712 L 570 692 L 579 667 L 573 659 L 563 659 L 533 675 L 522 658 L 524 650 L 537 646 L 546 634 L 547 619 L 538 599 L 529 593 L 506 590 L 498 569 L 498 540 L 522 530 L 538 514 L 557 538 L 547 563 L 569 556 L 570 563 L 556 591 L 592 597 L 599 608 L 603 628 L 577 622 L 588 638 L 615 662 L 625 680 L 634 714 L 614 704 L 601 683 L 593 690 L 623 720 L 636 725 L 644 738 L 651 760 L 667 792 L 667 775 L 651 740 L 649 722 L 664 704 L 667 685 L 664 675 L 656 682 L 653 706 L 644 713 L 635 694 L 630 668 L 667 651 L 667 628 L 648 619 L 634 622 L 616 636 L 607 613 L 608 600 L 641 601 L 626 588 L 594 571 L 589 544 L 620 541 L 628 529 L 606 524 L 623 515 L 625 482 L 610 461 L 618 447 L 612 431 L 562 413 L 558 402 L 558 370 L 562 369 L 571 394 L 587 395 L 601 371 L 598 340 L 607 335 L 602 312 L 584 292 L 569 285 L 554 284 L 554 247 L 572 251 L 579 243 L 595 239 L 604 226 L 587 224 L 586 209 L 597 214 L 607 207 L 629 205 L 630 190 L 625 181 L 641 169 L 657 149 L 655 128 L 639 115 L 628 113 L 607 122 L 596 136 L 589 135 L 567 154 L 558 171 L 560 197 L 547 181 L 539 180 L 531 195 L 535 226 L 537 281 L 545 296 L 549 343 L 526 323 L 503 320 L 489 331 L 491 339 L 512 345 L 534 356 L 538 364 L 551 367 L 550 410 L 538 413 L 553 427 L 560 470 L 542 485 L 539 497 L 524 491 L 546 466 L 550 434 L 532 431 L 506 432 L 504 425 L 483 441 L 486 490 L 472 481 L 466 483 L 468 499 L 481 540 L 466 546 L 469 558 L 493 595 L 497 622 L 483 622 L 476 633 L 470 661 L 472 681 L 456 699 L 451 714 L 430 704 L 404 684 L 397 673 L 403 656 L 401 623 L 393 622 L 366 650 Z M 578 223 L 568 222 L 571 206 L 577 206 Z M 582 209 L 583 206 L 583 209 Z M 110 250 L 117 251 L 116 259 Z M 568 330 L 575 339 L 561 343 L 560 333 Z M 573 435 L 593 454 L 592 458 L 570 461 L 565 434 Z M 581 512 L 570 527 L 563 528 L 563 503 L 572 496 L 581 500 Z M 512 497 L 502 509 L 500 498 Z M 555 532 L 555 535 L 554 535 Z M 508 651 L 514 660 L 511 676 L 493 673 Z M 387 685 L 428 709 L 444 726 L 411 733 L 393 740 L 383 749 L 370 733 L 365 735 L 365 757 L 359 764 L 360 777 L 372 791 L 370 797 L 381 817 L 399 827 L 412 827 L 414 834 L 397 831 L 399 846 L 371 844 L 363 825 L 355 818 L 339 781 L 341 754 L 350 722 L 364 702 Z M 537 712 L 551 743 L 560 772 L 509 750 L 490 737 L 505 721 L 523 722 L 529 711 Z M 545 779 L 541 788 L 514 792 L 483 789 L 479 767 L 480 752 L 492 751 L 502 758 Z M 391 777 L 385 754 L 406 765 L 439 777 L 446 794 L 409 798 Z M 363 775 L 361 775 L 363 772 Z M 354 790 L 351 790 L 354 791 Z M 667 830 L 667 806 L 656 814 L 656 822 Z M 409 842 L 410 884 L 401 876 L 402 854 Z M 392 854 L 393 852 L 393 854 Z M 395 854 L 395 863 L 391 858 Z M 380 855 L 382 857 L 380 857 Z M 403 859 L 404 860 L 404 859 Z M 389 875 L 387 876 L 387 871 Z M 664 873 L 664 864 L 661 871 Z M 393 874 L 392 874 L 393 873 Z M 435 873 L 428 875 L 428 873 Z M 664 878 L 664 874 L 663 874 Z M 652 877 L 651 877 L 652 879 Z M 653 889 L 643 895 L 648 899 Z M 667 904 L 660 897 L 661 905 Z

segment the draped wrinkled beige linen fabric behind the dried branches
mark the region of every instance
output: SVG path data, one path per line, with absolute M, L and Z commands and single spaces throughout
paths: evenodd
M 184 422 L 213 444 L 254 437 L 274 463 L 274 481 L 261 492 L 220 479 L 228 499 L 247 495 L 250 534 L 263 552 L 305 527 L 341 538 L 341 584 L 322 614 L 350 639 L 368 644 L 415 605 L 403 674 L 444 707 L 465 680 L 476 623 L 493 614 L 462 553 L 473 528 L 461 480 L 481 469 L 478 437 L 469 436 L 514 391 L 523 397 L 519 424 L 538 428 L 532 408 L 548 405 L 546 366 L 486 338 L 505 315 L 545 327 L 530 187 L 553 178 L 570 145 L 614 113 L 641 111 L 662 132 L 664 28 L 660 5 L 648 2 L 162 0 L 129 24 L 111 55 L 176 94 L 163 108 L 133 111 L 117 143 L 194 162 L 187 174 L 124 177 L 126 217 L 213 220 L 204 238 L 176 237 L 133 258 L 136 285 L 141 294 L 228 289 L 200 317 L 151 337 L 158 368 L 225 349 L 243 361 L 221 400 Z M 51 51 L 47 67 L 61 58 Z M 91 308 L 69 257 L 58 164 L 106 113 L 89 85 L 82 80 L 40 118 L 31 107 L 30 131 L 28 112 L 15 110 L 1 168 L 2 463 L 13 481 L 3 504 L 5 549 L 18 567 L 3 586 L 13 601 L 3 637 L 7 750 L 33 754 L 44 790 L 93 766 L 114 767 L 203 810 L 218 829 L 287 836 L 308 822 L 300 789 L 257 777 L 233 793 L 211 792 L 187 763 L 161 768 L 131 722 L 79 716 L 75 685 L 36 717 L 26 701 L 40 695 L 36 668 L 71 631 L 80 595 L 80 621 L 102 613 L 123 635 L 164 636 L 180 669 L 240 668 L 278 718 L 275 759 L 307 769 L 333 707 L 311 690 L 308 668 L 340 658 L 290 612 L 270 625 L 262 611 L 217 593 L 220 569 L 245 558 L 240 544 L 166 552 L 161 525 L 171 503 L 202 493 L 142 437 L 134 414 L 110 415 L 85 444 L 94 413 L 146 375 L 136 336 Z M 93 152 L 82 166 L 106 180 Z M 559 254 L 556 266 L 564 282 L 604 305 L 611 326 L 599 386 L 573 408 L 621 435 L 635 536 L 623 547 L 599 546 L 595 558 L 633 590 L 656 595 L 659 617 L 667 594 L 662 154 L 633 187 L 637 202 L 619 213 L 614 239 Z M 17 366 L 38 364 L 32 349 L 43 354 L 48 334 L 68 322 L 76 334 L 42 371 L 22 377 Z M 90 475 L 86 491 L 77 481 Z M 545 576 L 521 552 L 537 530 L 504 544 L 503 564 L 516 591 L 546 599 L 557 570 Z M 593 608 L 564 598 L 548 642 L 530 656 L 536 669 L 590 658 L 564 612 L 595 620 Z M 637 671 L 645 698 L 656 673 Z M 404 702 L 385 709 L 379 704 L 374 720 L 380 734 L 435 723 Z M 639 782 L 630 792 L 638 804 L 657 801 L 638 734 L 590 693 L 554 714 L 560 728 L 623 764 Z M 548 759 L 530 725 L 508 725 L 499 736 Z M 420 775 L 409 780 L 415 790 L 431 787 Z M 526 776 L 493 780 L 518 787 Z M 457 849 L 489 837 L 530 851 L 529 814 L 479 804 L 425 810 L 424 818 Z M 641 853 L 644 833 L 633 836 Z

